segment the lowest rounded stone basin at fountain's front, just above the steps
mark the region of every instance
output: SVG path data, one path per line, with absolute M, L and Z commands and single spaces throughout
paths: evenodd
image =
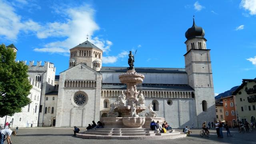
M 129 128 L 141 128 L 145 123 L 145 118 L 123 117 L 122 122 L 124 126 Z

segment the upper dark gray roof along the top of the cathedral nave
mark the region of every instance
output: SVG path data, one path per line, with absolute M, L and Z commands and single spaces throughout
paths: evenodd
M 152 72 L 152 73 L 186 73 L 185 68 L 135 68 L 136 72 Z M 127 67 L 110 67 L 102 66 L 100 72 L 126 72 Z

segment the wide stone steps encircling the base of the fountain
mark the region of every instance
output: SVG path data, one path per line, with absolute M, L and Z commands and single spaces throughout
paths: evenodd
M 142 140 L 142 139 L 173 139 L 183 138 L 186 134 L 180 132 L 160 133 L 152 131 L 150 128 L 96 128 L 76 134 L 80 138 L 88 139 L 122 139 L 122 140 Z

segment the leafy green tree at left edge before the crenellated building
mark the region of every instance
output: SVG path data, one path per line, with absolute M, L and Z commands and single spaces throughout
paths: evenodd
M 32 85 L 28 81 L 28 66 L 15 62 L 16 52 L 0 45 L 0 117 L 12 116 L 30 104 Z

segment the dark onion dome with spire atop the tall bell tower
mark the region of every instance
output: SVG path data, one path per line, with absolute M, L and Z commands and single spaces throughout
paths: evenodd
M 204 38 L 204 29 L 200 26 L 196 26 L 193 18 L 193 25 L 186 31 L 185 36 L 188 40 L 192 38 Z

